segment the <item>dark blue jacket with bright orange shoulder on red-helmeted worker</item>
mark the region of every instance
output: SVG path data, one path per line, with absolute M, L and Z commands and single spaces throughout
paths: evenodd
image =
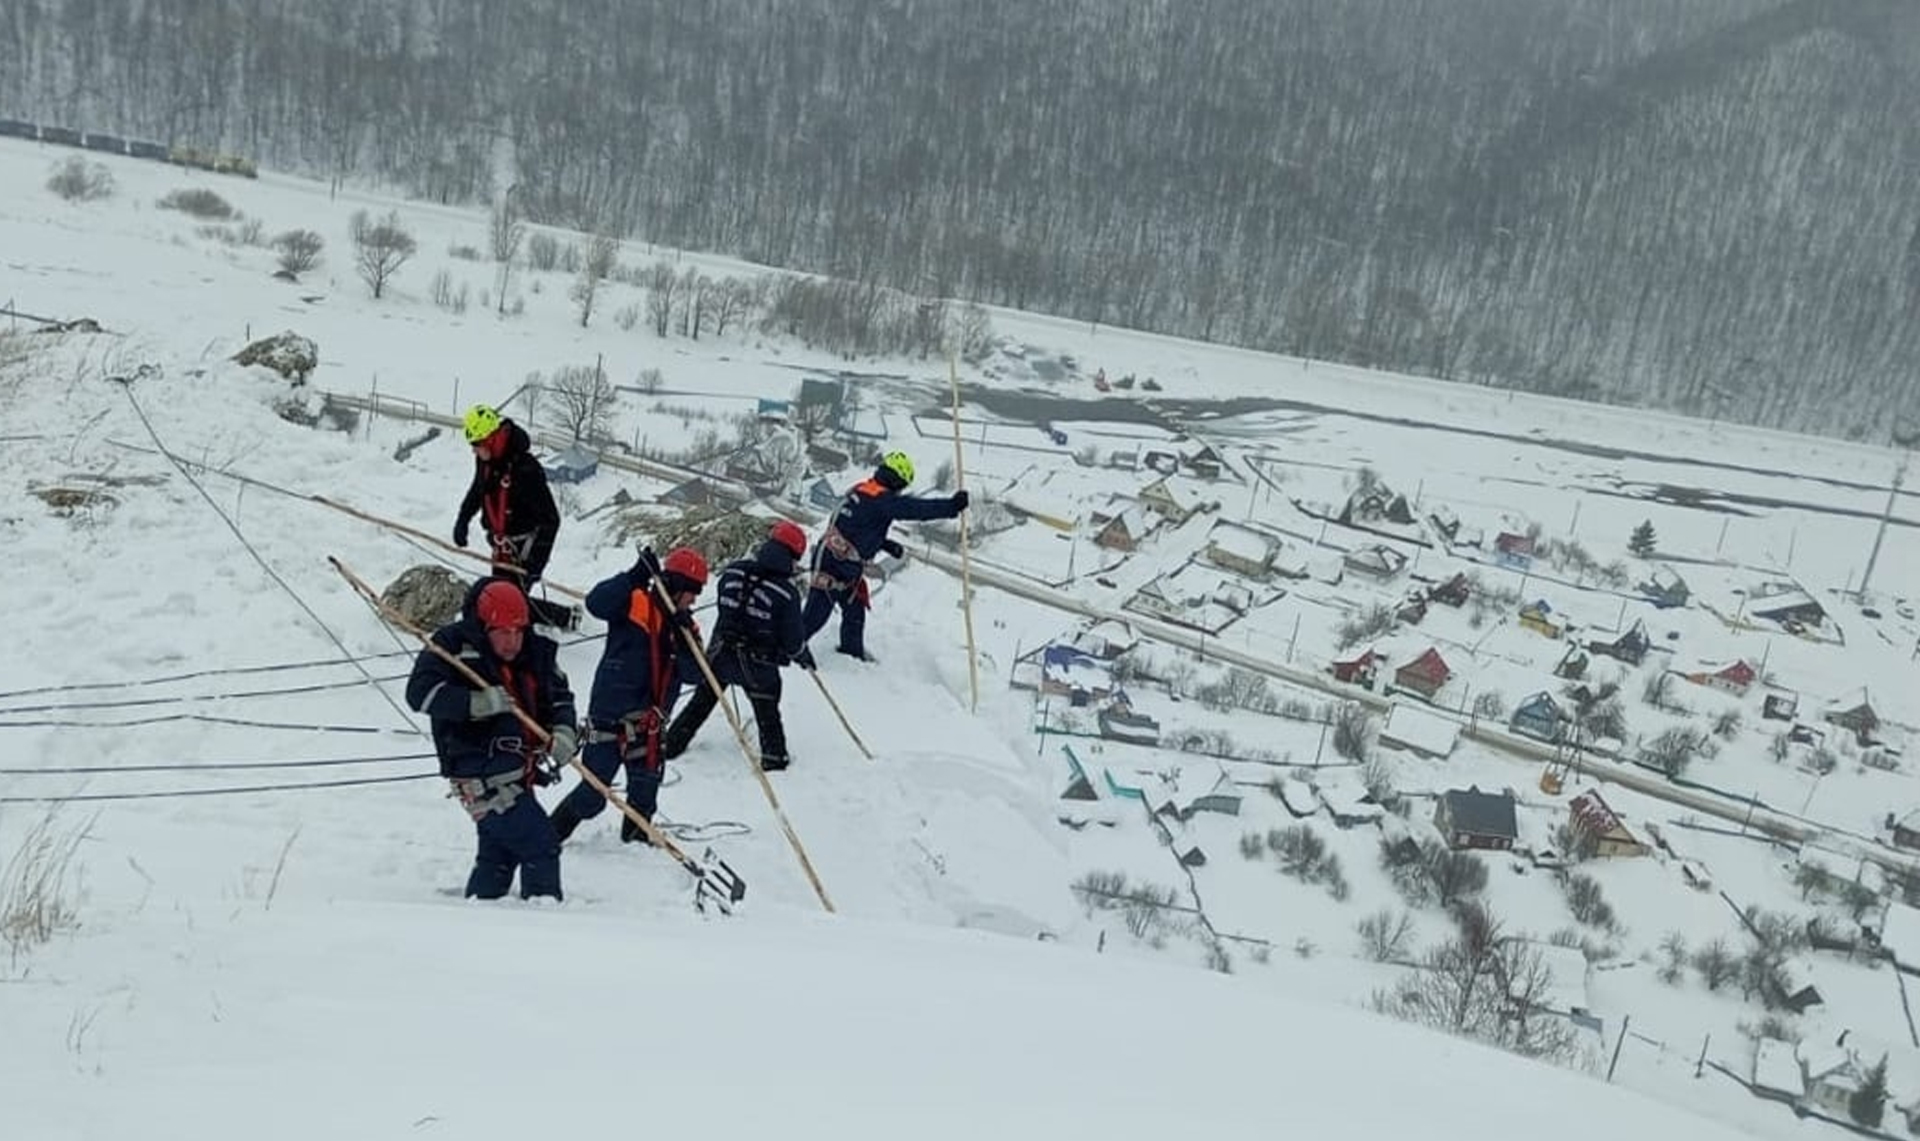
M 588 697 L 588 718 L 595 724 L 611 726 L 647 709 L 666 716 L 680 684 L 699 678 L 691 651 L 647 578 L 645 570 L 632 567 L 588 592 L 588 613 L 607 622 L 607 647 Z

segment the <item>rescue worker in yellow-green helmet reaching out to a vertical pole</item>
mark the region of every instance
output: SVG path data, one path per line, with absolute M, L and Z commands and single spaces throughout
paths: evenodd
M 904 549 L 887 538 L 895 521 L 956 519 L 968 505 L 966 488 L 941 499 L 902 496 L 914 482 L 914 461 L 904 451 L 889 451 L 866 480 L 841 499 L 826 534 L 814 544 L 808 580 L 804 636 L 810 640 L 828 624 L 833 607 L 841 611 L 839 649 L 849 657 L 874 661 L 866 651 L 866 563 L 887 551 L 899 559 Z

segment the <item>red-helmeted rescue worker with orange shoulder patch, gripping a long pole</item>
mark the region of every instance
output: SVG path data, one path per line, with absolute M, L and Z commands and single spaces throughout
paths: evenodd
M 653 594 L 653 582 L 666 588 L 674 609 Z M 647 820 L 660 803 L 660 776 L 666 755 L 660 751 L 660 726 L 684 680 L 697 680 L 687 642 L 699 638 L 693 624 L 693 601 L 707 586 L 707 559 L 691 547 L 676 547 L 659 561 L 653 549 L 643 549 L 628 570 L 622 570 L 588 592 L 588 613 L 607 622 L 607 647 L 593 670 L 593 690 L 588 697 L 588 738 L 580 763 L 612 782 L 616 768 L 626 765 L 626 803 Z M 563 841 L 582 820 L 599 816 L 607 797 L 582 780 L 566 799 L 553 809 L 553 832 Z M 620 839 L 643 841 L 637 824 L 620 818 Z

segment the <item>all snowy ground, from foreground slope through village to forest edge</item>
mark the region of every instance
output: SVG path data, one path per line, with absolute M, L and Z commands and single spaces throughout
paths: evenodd
M 12 615 L 25 649 L 0 665 L 6 884 L 35 866 L 36 836 L 73 853 L 73 922 L 50 943 L 10 937 L 0 972 L 0 1072 L 19 1091 L 8 1103 L 19 1135 L 505 1137 L 624 1122 L 712 1135 L 1158 1137 L 1281 1120 L 1331 1137 L 1482 1137 L 1490 1106 L 1500 1135 L 1828 1131 L 1718 1068 L 1695 1076 L 1705 1060 L 1751 1078 L 1749 1032 L 1766 1014 L 1757 997 L 1709 989 L 1695 970 L 1659 974 L 1674 939 L 1688 953 L 1740 951 L 1736 907 L 1878 922 L 1884 901 L 1849 909 L 1845 884 L 1811 886 L 1805 853 L 1743 828 L 1743 811 L 1832 830 L 1822 843 L 1855 861 L 1843 878 L 1862 876 L 1868 853 L 1908 859 L 1885 828 L 1920 809 L 1907 747 L 1920 724 L 1908 492 L 1872 590 L 1851 594 L 1899 455 L 995 311 L 998 352 L 960 367 L 966 482 L 1006 513 L 972 551 L 977 707 L 960 588 L 943 570 L 950 532 L 935 526 L 902 528 L 910 557 L 876 595 L 868 638 L 881 665 L 822 653 L 822 680 L 876 759 L 806 678 L 787 680 L 797 761 L 772 788 L 835 912 L 720 718 L 676 763 L 662 816 L 747 876 L 741 916 L 695 916 L 685 874 L 620 845 L 607 816 L 566 847 L 564 905 L 467 905 L 449 893 L 472 828 L 432 776 L 424 722 L 399 703 L 413 645 L 326 559 L 374 584 L 419 563 L 472 565 L 319 499 L 445 536 L 467 451 L 447 432 L 403 449 L 426 425 L 392 415 L 351 430 L 288 423 L 288 386 L 228 357 L 290 328 L 321 346 L 309 405 L 311 390 L 378 394 L 438 415 L 599 359 L 634 388 L 609 436 L 695 467 L 703 444 L 758 430 L 756 401 L 856 369 L 864 407 L 839 442 L 852 463 L 806 473 L 778 501 L 804 501 L 820 476 L 852 482 L 881 448 L 912 451 L 916 490 L 935 490 L 954 457 L 945 363 L 849 365 L 739 328 L 659 338 L 643 319 L 620 327 L 645 290 L 616 280 L 582 327 L 572 279 L 526 267 L 511 284 L 522 311 L 497 317 L 482 300 L 497 267 L 453 254 L 486 250 L 484 213 L 106 158 L 117 192 L 69 204 L 44 188 L 61 158 L 0 140 L 0 302 L 104 330 L 0 323 L 13 332 L 0 361 L 17 361 L 0 378 L 0 536 L 21 569 Z M 180 188 L 215 190 L 269 236 L 321 232 L 324 263 L 275 280 L 271 250 L 157 206 Z M 420 242 L 378 302 L 351 273 L 348 219 L 361 207 L 397 209 Z M 655 259 L 768 273 L 622 248 L 624 265 Z M 467 290 L 465 311 L 432 300 L 442 273 Z M 655 394 L 637 390 L 649 369 Z M 1096 369 L 1162 390 L 1098 394 Z M 551 409 L 534 407 L 536 430 L 555 432 Z M 1338 509 L 1365 480 L 1404 496 L 1415 522 L 1361 530 L 1294 507 Z M 553 588 L 586 590 L 626 567 L 607 507 L 674 484 L 603 465 L 564 488 Z M 1484 544 L 1434 538 L 1436 513 Z M 1125 542 L 1114 519 L 1135 524 Z M 1219 521 L 1273 536 L 1275 567 L 1302 574 L 1223 567 L 1208 553 Z M 1642 522 L 1657 534 L 1649 557 L 1628 551 Z M 1561 544 L 1563 557 L 1501 561 L 1501 532 Z M 1342 572 L 1373 544 L 1405 567 L 1380 580 Z M 1567 544 L 1590 557 L 1569 561 Z M 1244 549 L 1244 536 L 1229 546 Z M 1688 605 L 1644 597 L 1638 584 L 1661 570 L 1686 578 Z M 1430 603 L 1417 624 L 1342 645 L 1344 624 L 1453 574 L 1480 597 Z M 1795 634 L 1751 619 L 1766 584 L 1793 584 L 1824 622 Z M 1561 626 L 1521 622 L 1536 599 Z M 1018 659 L 1098 617 L 1135 624 L 1137 672 L 1114 686 L 1158 726 L 1154 745 L 1098 736 L 1112 697 L 1075 707 L 1014 684 Z M 1475 740 L 1530 693 L 1565 699 L 1571 678 L 1553 670 L 1569 651 L 1636 622 L 1653 643 L 1645 661 L 1590 655 L 1582 680 L 1619 682 L 1626 753 L 1668 728 L 1734 718 L 1715 755 L 1684 768 L 1705 786 L 1688 786 L 1699 801 L 1676 801 L 1645 768 L 1632 770 L 1636 788 L 1596 786 L 1611 770 L 1592 759 L 1551 793 L 1538 755 Z M 1380 684 L 1336 684 L 1331 663 L 1367 647 L 1382 655 Z M 1380 745 L 1375 716 L 1375 763 L 1344 757 L 1327 711 L 1379 701 L 1427 649 L 1452 668 L 1430 705 L 1473 732 L 1434 761 Z M 582 697 L 597 655 L 595 622 L 563 647 Z M 1732 661 L 1755 667 L 1747 692 L 1705 684 Z M 1227 665 L 1265 674 L 1263 709 Z M 1657 676 L 1670 676 L 1661 705 L 1645 697 Z M 1882 720 L 1870 747 L 1820 716 L 1862 690 Z M 1763 718 L 1768 693 L 1791 695 L 1797 720 Z M 1820 736 L 1791 741 L 1793 724 Z M 1092 799 L 1062 799 L 1075 776 Z M 1398 814 L 1367 801 L 1369 782 L 1384 782 Z M 1532 855 L 1473 857 L 1509 934 L 1586 945 L 1584 976 L 1559 980 L 1584 989 L 1582 1014 L 1597 1022 L 1580 1032 L 1578 1072 L 1367 1010 L 1407 974 L 1398 962 L 1452 934 L 1442 909 L 1402 899 L 1382 839 L 1440 841 L 1436 805 L 1467 788 L 1511 791 L 1519 847 L 1534 855 L 1557 845 L 1571 799 L 1590 788 L 1651 849 L 1580 864 L 1611 926 L 1582 922 Z M 1215 807 L 1158 813 L 1196 797 Z M 1227 801 L 1235 813 L 1215 811 Z M 1286 828 L 1338 857 L 1344 895 L 1279 870 L 1265 838 Z M 1693 870 L 1711 886 L 1690 886 Z M 1135 930 L 1127 909 L 1073 889 L 1102 874 L 1165 891 L 1171 907 Z M 1382 909 L 1409 916 L 1388 962 L 1356 934 Z M 1907 1066 L 1916 1037 L 1891 964 L 1822 949 L 1795 962 L 1822 1003 L 1780 1014 L 1776 1032 L 1805 1043 L 1847 1032 Z M 589 1001 L 595 985 L 616 997 Z M 495 1095 L 495 1083 L 528 1093 Z M 1895 1101 L 1920 1101 L 1920 1081 L 1897 1083 Z M 1905 1135 L 1893 1108 L 1887 1122 Z

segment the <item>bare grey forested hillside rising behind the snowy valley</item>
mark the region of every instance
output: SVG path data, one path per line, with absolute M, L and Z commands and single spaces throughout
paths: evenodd
M 1885 440 L 1912 0 L 0 6 L 0 115 L 922 294 Z

